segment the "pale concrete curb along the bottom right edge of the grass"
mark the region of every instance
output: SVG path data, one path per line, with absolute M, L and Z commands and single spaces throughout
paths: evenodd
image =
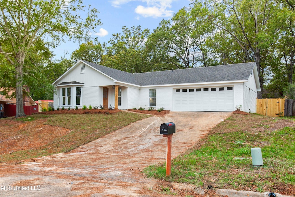
M 229 189 L 217 189 L 215 191 L 217 194 L 228 197 L 268 197 L 269 192 L 259 193 L 254 191 L 237 191 L 237 190 L 229 190 Z M 292 197 L 285 196 L 279 193 L 275 193 L 276 197 Z

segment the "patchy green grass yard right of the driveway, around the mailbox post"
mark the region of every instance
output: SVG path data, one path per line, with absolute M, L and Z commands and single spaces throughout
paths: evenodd
M 253 147 L 262 149 L 262 167 L 252 166 Z M 294 196 L 294 152 L 294 118 L 233 113 L 194 148 L 172 160 L 170 177 L 165 177 L 165 163 L 143 172 L 160 180 L 194 184 L 205 191 L 223 188 Z

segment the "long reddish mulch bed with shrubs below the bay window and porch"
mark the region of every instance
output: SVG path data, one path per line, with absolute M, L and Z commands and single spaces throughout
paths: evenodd
M 104 113 L 104 114 L 111 114 L 111 113 L 117 113 L 119 112 L 120 110 L 108 110 L 108 109 L 104 109 L 104 110 L 101 110 L 101 109 L 92 109 L 92 110 L 83 110 L 83 109 L 77 109 L 77 110 L 74 110 L 74 109 L 71 109 L 71 110 L 68 110 L 68 109 L 65 109 L 65 110 L 54 110 L 54 111 L 47 111 L 47 112 L 39 112 L 39 114 L 62 114 L 62 113 L 75 113 L 75 114 L 87 114 L 87 113 Z

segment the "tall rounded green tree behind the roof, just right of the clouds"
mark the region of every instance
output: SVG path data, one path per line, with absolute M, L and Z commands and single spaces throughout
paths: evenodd
M 198 35 L 192 37 L 193 28 L 189 13 L 179 10 L 171 20 L 162 20 L 148 37 L 146 47 L 150 56 L 162 69 L 192 68 L 198 63 Z

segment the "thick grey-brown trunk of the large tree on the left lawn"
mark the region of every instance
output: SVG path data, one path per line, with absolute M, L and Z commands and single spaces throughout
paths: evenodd
M 24 103 L 23 103 L 23 86 L 22 86 L 22 77 L 23 77 L 23 68 L 24 63 L 17 64 L 16 67 L 16 102 L 17 102 L 17 112 L 15 117 L 25 116 L 24 113 Z

